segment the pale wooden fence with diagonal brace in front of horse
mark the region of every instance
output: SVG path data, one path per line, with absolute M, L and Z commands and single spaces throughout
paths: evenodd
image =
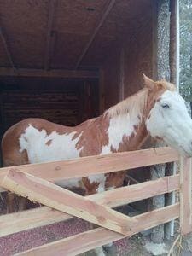
M 173 161 L 179 161 L 180 172 L 177 175 L 86 197 L 76 195 L 53 183 L 73 177 L 118 172 Z M 180 218 L 181 234 L 187 234 L 192 231 L 190 165 L 190 159 L 181 158 L 175 150 L 166 147 L 1 168 L 1 191 L 8 189 L 32 201 L 38 201 L 44 207 L 1 216 L 0 236 L 54 224 L 74 216 L 100 226 L 17 254 L 37 253 L 43 256 L 58 255 L 61 252 L 77 255 L 176 218 Z M 134 217 L 113 210 L 113 207 L 176 190 L 180 193 L 180 201 L 170 206 Z

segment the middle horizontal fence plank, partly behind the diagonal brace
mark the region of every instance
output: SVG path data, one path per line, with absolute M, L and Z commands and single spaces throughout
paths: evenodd
M 179 189 L 178 175 L 108 190 L 96 195 L 89 195 L 87 198 L 104 206 L 117 207 L 125 203 L 143 200 L 150 196 L 168 193 L 177 189 Z M 55 211 L 49 207 L 6 214 L 0 217 L 0 237 L 70 218 L 72 217 L 67 213 Z

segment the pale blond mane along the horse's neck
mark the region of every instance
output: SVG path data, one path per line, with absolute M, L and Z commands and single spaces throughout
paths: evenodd
M 139 90 L 132 96 L 129 96 L 122 102 L 114 105 L 108 110 L 105 111 L 104 115 L 108 115 L 109 118 L 113 118 L 118 115 L 122 115 L 125 113 L 130 113 L 130 115 L 136 113 L 143 113 L 143 109 L 147 105 L 148 99 L 148 89 L 144 88 L 143 90 Z

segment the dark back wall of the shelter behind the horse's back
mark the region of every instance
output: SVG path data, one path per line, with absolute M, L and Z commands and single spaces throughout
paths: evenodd
M 43 118 L 61 125 L 78 125 L 98 115 L 96 80 L 57 81 L 53 84 L 20 79 L 1 84 L 1 133 L 26 118 Z

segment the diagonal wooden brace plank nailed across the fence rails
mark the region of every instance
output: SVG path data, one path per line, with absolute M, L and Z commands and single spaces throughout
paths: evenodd
M 24 172 L 9 171 L 3 178 L 2 186 L 31 201 L 83 218 L 125 236 L 137 224 L 134 218 Z

